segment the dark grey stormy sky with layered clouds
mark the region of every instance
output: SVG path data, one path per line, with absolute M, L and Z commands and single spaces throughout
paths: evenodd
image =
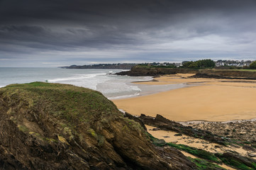
M 255 0 L 0 0 L 0 67 L 256 60 Z

